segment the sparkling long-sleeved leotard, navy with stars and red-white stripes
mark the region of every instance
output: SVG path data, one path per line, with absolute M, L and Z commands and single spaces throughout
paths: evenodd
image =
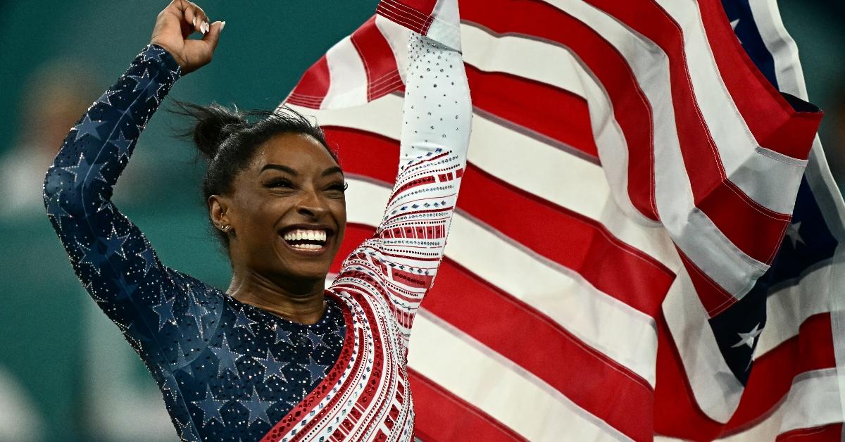
M 443 255 L 472 110 L 460 52 L 417 34 L 409 44 L 394 192 L 314 325 L 166 267 L 112 203 L 144 125 L 180 76 L 161 47 L 144 48 L 65 139 L 46 173 L 47 214 L 79 281 L 150 369 L 183 439 L 412 439 L 407 336 Z M 450 66 L 454 81 L 438 82 L 429 62 Z

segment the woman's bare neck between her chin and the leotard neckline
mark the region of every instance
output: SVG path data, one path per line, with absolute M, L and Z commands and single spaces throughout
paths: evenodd
M 325 281 L 279 281 L 253 270 L 235 271 L 227 293 L 242 303 L 254 305 L 299 324 L 315 324 L 325 311 Z

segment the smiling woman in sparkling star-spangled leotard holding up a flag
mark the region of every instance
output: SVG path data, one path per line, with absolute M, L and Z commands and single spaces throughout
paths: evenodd
M 46 174 L 47 213 L 183 439 L 411 440 L 407 337 L 442 258 L 469 140 L 461 53 L 412 32 L 394 193 L 327 290 L 345 183 L 319 128 L 290 113 L 250 123 L 186 106 L 209 158 L 210 221 L 232 262 L 221 292 L 162 265 L 110 197 L 144 124 L 181 75 L 210 61 L 223 26 L 187 1 L 159 14 L 150 46 L 65 139 Z M 194 31 L 202 40 L 188 40 Z

